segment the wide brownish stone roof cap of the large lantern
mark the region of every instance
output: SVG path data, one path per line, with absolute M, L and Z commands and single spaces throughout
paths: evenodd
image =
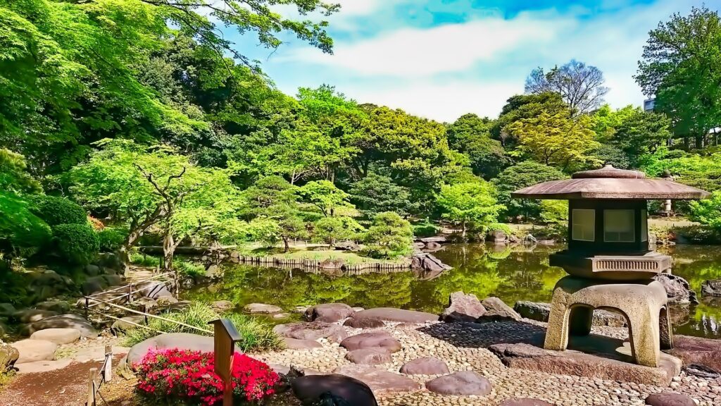
M 603 168 L 574 173 L 511 193 L 517 199 L 707 199 L 711 194 L 668 179 L 646 178 L 640 170 Z

